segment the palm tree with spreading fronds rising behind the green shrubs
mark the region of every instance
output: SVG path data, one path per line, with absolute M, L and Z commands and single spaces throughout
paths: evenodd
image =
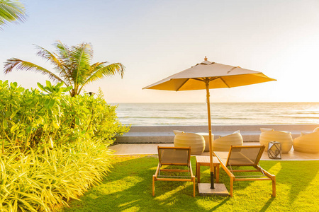
M 42 73 L 54 82 L 63 82 L 65 86 L 72 86 L 72 90 L 69 91 L 71 96 L 78 95 L 86 84 L 99 80 L 104 76 L 113 76 L 116 73 L 120 73 L 123 78 L 125 68 L 121 63 L 106 65 L 107 61 L 103 61 L 91 64 L 93 49 L 88 43 L 67 47 L 62 42 L 57 41 L 53 45 L 57 49 L 56 53 L 36 46 L 38 48 L 37 55 L 50 61 L 57 74 L 36 64 L 16 58 L 6 61 L 4 73 L 9 73 L 14 68 L 21 71 Z

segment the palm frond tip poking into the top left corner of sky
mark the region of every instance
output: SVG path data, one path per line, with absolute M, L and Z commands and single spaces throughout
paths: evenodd
M 26 19 L 26 9 L 19 1 L 0 0 L 0 29 L 1 25 L 9 22 L 20 21 Z

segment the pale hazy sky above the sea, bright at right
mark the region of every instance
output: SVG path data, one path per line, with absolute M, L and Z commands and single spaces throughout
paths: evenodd
M 211 102 L 319 102 L 319 1 L 25 0 L 28 17 L 0 30 L 0 79 L 38 88 L 40 73 L 3 73 L 11 57 L 51 69 L 34 45 L 54 51 L 89 42 L 92 62 L 121 62 L 123 79 L 85 87 L 106 102 L 205 102 L 205 90 L 142 90 L 209 61 L 262 71 L 277 81 L 211 90 Z

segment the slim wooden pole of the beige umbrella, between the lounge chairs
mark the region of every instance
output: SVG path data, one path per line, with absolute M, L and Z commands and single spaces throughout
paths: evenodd
M 208 113 L 208 138 L 209 138 L 209 162 L 211 167 L 211 189 L 214 187 L 214 172 L 213 172 L 213 145 L 211 141 L 211 102 L 209 100 L 209 78 L 205 78 L 206 83 L 206 102 L 207 102 L 207 113 Z

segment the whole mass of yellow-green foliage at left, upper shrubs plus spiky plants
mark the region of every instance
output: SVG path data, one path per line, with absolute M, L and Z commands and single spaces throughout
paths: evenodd
M 67 205 L 109 170 L 107 146 L 128 127 L 102 93 L 72 98 L 62 85 L 0 81 L 0 211 Z

